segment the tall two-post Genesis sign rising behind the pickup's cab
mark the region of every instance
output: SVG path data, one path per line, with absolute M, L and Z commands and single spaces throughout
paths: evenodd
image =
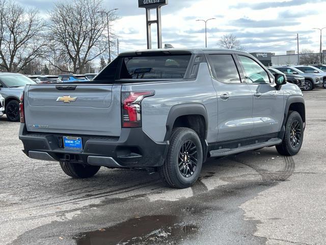
M 138 7 L 146 9 L 147 48 L 152 48 L 151 24 L 157 24 L 157 48 L 162 48 L 161 7 L 168 0 L 138 0 Z M 156 9 L 156 19 L 151 20 L 151 9 Z

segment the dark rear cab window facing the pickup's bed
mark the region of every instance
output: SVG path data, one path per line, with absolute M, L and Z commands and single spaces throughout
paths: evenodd
M 120 79 L 182 79 L 189 55 L 122 57 Z

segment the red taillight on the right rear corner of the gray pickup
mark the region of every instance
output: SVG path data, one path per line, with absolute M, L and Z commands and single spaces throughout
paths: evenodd
M 142 101 L 155 91 L 121 92 L 122 128 L 142 127 Z

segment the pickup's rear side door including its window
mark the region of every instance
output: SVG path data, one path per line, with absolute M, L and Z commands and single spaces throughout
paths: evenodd
M 253 127 L 253 95 L 242 83 L 232 54 L 207 55 L 218 95 L 218 141 L 249 137 Z

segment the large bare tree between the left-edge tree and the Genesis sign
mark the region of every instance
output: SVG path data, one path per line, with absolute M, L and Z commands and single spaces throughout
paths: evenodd
M 53 40 L 48 58 L 51 65 L 61 71 L 83 73 L 88 62 L 107 52 L 107 38 L 103 32 L 107 26 L 106 16 L 99 13 L 105 10 L 101 0 L 73 0 L 55 5 L 48 22 L 49 39 Z M 112 23 L 118 16 L 112 11 L 109 18 Z M 52 55 L 56 53 L 57 60 L 60 58 L 65 65 L 53 62 Z M 71 69 L 62 68 L 70 64 Z

